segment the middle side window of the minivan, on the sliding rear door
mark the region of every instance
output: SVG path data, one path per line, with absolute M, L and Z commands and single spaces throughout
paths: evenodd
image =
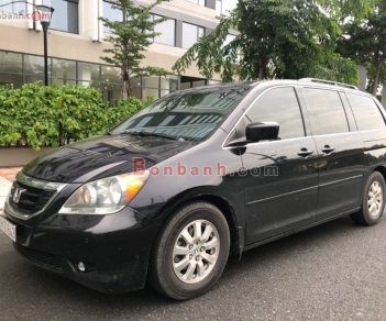
M 348 119 L 337 91 L 305 88 L 304 97 L 313 135 L 349 132 Z

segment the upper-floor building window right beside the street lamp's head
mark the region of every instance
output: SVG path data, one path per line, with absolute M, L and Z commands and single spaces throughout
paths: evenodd
M 43 1 L 43 3 L 55 8 L 51 21 L 51 29 L 69 33 L 79 33 L 77 0 L 51 0 Z

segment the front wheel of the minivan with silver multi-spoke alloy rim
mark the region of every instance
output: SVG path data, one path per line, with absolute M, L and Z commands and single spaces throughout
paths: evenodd
M 220 279 L 229 251 L 230 232 L 221 211 L 207 202 L 187 204 L 169 219 L 156 241 L 150 283 L 175 300 L 201 296 Z

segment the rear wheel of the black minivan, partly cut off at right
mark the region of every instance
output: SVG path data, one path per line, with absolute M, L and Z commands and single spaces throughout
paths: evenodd
M 375 225 L 385 210 L 385 179 L 379 171 L 374 171 L 365 185 L 362 208 L 351 219 L 361 225 Z

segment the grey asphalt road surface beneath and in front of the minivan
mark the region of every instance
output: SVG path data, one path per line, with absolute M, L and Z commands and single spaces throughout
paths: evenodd
M 386 217 L 350 219 L 230 261 L 209 294 L 174 302 L 152 289 L 106 296 L 30 265 L 0 235 L 0 320 L 386 320 Z

